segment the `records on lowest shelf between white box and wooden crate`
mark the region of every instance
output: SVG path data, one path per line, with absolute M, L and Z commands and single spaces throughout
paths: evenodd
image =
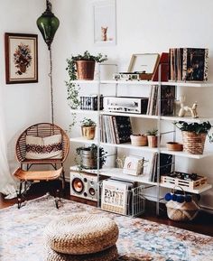
M 159 163 L 160 158 L 160 163 Z M 149 182 L 157 182 L 158 180 L 158 169 L 160 168 L 159 174 L 162 175 L 170 174 L 172 166 L 172 155 L 171 154 L 153 154 L 153 160 L 149 172 Z M 159 177 L 159 178 L 160 178 Z

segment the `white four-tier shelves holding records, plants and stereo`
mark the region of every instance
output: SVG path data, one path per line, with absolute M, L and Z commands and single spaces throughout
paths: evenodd
M 186 88 L 200 88 L 200 89 L 205 89 L 205 88 L 212 88 L 213 83 L 198 83 L 198 82 L 160 82 L 160 81 L 147 81 L 147 80 L 80 80 L 80 81 L 73 81 L 79 85 L 87 85 L 87 84 L 93 84 L 97 87 L 98 89 L 98 95 L 100 95 L 100 89 L 102 85 L 112 85 L 114 84 L 116 86 L 116 89 L 118 88 L 119 85 L 134 85 L 134 86 L 152 86 L 152 85 L 167 85 L 167 86 L 177 86 L 177 87 L 186 87 Z M 116 92 L 117 93 L 117 92 Z M 99 116 L 100 115 L 111 115 L 111 116 L 125 116 L 125 117 L 134 117 L 134 118 L 141 118 L 141 119 L 151 119 L 157 122 L 157 125 L 160 126 L 160 123 L 162 121 L 168 121 L 168 122 L 174 122 L 174 121 L 186 121 L 189 123 L 192 122 L 197 122 L 197 123 L 202 123 L 205 121 L 213 121 L 213 117 L 199 117 L 199 118 L 191 118 L 191 117 L 164 117 L 164 116 L 150 116 L 150 115 L 139 115 L 139 114 L 132 114 L 132 113 L 122 113 L 122 112 L 107 112 L 107 111 L 92 111 L 92 110 L 71 110 L 73 113 L 77 113 L 80 115 L 93 115 L 97 117 L 97 125 L 99 124 Z M 81 144 L 97 144 L 101 146 L 108 146 L 108 147 L 113 147 L 116 150 L 117 149 L 134 149 L 138 150 L 139 152 L 148 152 L 148 153 L 162 153 L 162 154 L 172 154 L 178 157 L 184 157 L 184 158 L 189 158 L 189 159 L 201 159 L 207 156 L 212 156 L 213 153 L 205 153 L 205 154 L 187 154 L 185 152 L 176 152 L 176 151 L 169 151 L 166 147 L 158 147 L 158 148 L 150 148 L 148 146 L 134 146 L 132 144 L 108 144 L 108 143 L 101 143 L 100 142 L 100 137 L 99 134 L 97 135 L 96 140 L 86 140 L 82 137 L 72 137 L 70 138 L 71 143 L 81 143 Z M 75 170 L 75 166 L 71 167 Z M 116 169 L 115 168 L 109 168 L 109 169 L 101 169 L 98 171 L 94 170 L 86 170 L 86 172 L 92 172 L 92 173 L 97 173 L 97 175 L 105 175 L 108 177 L 116 177 L 116 178 L 123 178 L 127 181 L 134 181 L 134 182 L 141 182 L 147 185 L 152 185 L 156 186 L 158 190 L 161 188 L 167 188 L 167 189 L 172 189 L 173 184 L 165 184 L 161 182 L 149 182 L 148 179 L 148 174 L 144 174 L 143 176 L 132 176 L 132 175 L 126 175 L 122 172 L 122 169 Z M 159 177 L 158 177 L 159 178 Z M 159 179 L 158 179 L 159 180 Z M 208 191 L 209 189 L 212 188 L 211 184 L 205 184 L 202 187 L 199 187 L 198 189 L 191 190 L 189 188 L 184 188 L 184 191 L 188 191 L 191 193 L 196 193 L 199 194 L 204 191 Z M 159 213 L 159 200 L 157 202 L 157 213 Z

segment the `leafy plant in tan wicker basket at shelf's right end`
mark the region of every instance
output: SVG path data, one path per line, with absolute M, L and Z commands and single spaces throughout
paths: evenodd
M 185 121 L 174 122 L 181 130 L 183 151 L 189 154 L 203 154 L 204 144 L 208 131 L 212 127 L 210 123 L 187 123 Z M 209 142 L 213 141 L 212 135 L 208 135 Z

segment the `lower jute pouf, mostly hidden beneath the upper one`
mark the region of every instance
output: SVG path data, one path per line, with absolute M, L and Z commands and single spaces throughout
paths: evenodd
M 47 256 L 45 261 L 115 261 L 117 258 L 118 253 L 116 246 L 109 247 L 104 251 L 88 255 L 60 254 L 49 247 L 47 249 Z

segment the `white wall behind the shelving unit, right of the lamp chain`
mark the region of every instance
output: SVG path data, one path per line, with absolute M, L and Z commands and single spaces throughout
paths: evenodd
M 64 80 L 68 79 L 66 59 L 83 51 L 102 52 L 119 70 L 127 70 L 133 53 L 168 51 L 170 47 L 209 48 L 209 79 L 213 80 L 213 19 L 211 0 L 116 0 L 117 44 L 97 47 L 93 44 L 93 14 L 89 0 L 54 0 L 60 29 L 53 43 L 56 118 L 67 128 L 71 121 L 66 102 Z M 199 113 L 212 115 L 212 89 L 182 89 L 189 103 L 197 100 Z M 200 95 L 201 94 L 201 95 Z M 213 145 L 207 144 L 210 150 Z M 71 144 L 73 148 L 73 144 Z M 74 154 L 71 150 L 70 156 Z M 213 183 L 212 157 L 199 161 L 181 161 L 185 171 L 199 172 Z M 213 208 L 213 191 L 203 194 L 202 204 Z

